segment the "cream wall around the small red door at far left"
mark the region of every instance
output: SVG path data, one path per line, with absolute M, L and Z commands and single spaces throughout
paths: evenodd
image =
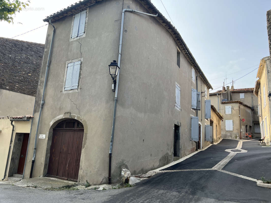
M 11 144 L 11 152 L 13 150 L 13 144 L 14 144 L 14 139 L 16 133 L 29 133 L 30 132 L 30 126 L 31 126 L 31 119 L 30 121 L 24 121 L 24 122 L 19 122 L 19 121 L 14 121 L 14 133 L 13 133 L 13 139 L 12 139 L 12 144 Z M 11 121 L 9 119 L 0 119 L 0 129 L 2 132 L 0 132 L 0 175 L 1 179 L 4 177 L 4 172 L 5 172 L 5 166 L 7 162 L 7 157 L 8 157 L 8 149 L 9 149 L 9 143 L 11 139 L 11 132 L 12 132 L 12 126 L 11 126 Z M 20 149 L 21 150 L 21 149 Z M 20 153 L 20 152 L 19 152 Z M 8 169 L 7 169 L 7 176 L 6 179 L 8 178 L 9 174 L 9 163 L 11 159 L 12 153 L 9 156 L 9 162 L 8 162 Z M 17 166 L 18 167 L 18 166 Z

